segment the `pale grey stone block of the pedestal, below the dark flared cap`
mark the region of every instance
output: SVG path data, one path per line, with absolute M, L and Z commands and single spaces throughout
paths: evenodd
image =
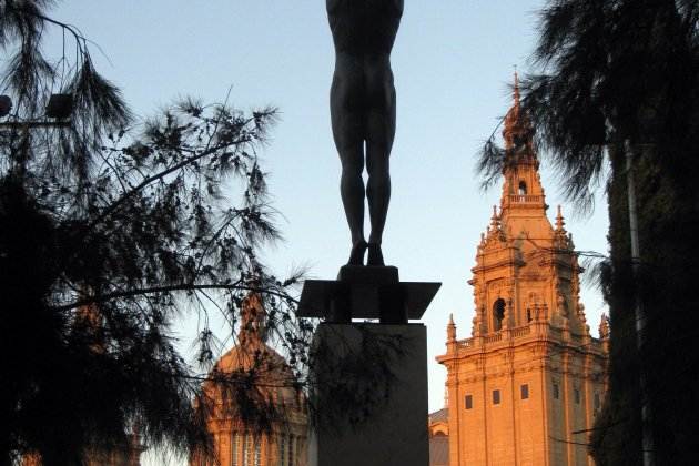
M 384 392 L 386 381 L 372 379 L 371 371 L 366 381 L 353 378 L 353 388 L 358 384 L 359 391 L 367 388 L 366 393 L 369 396 L 373 393 L 375 397 L 368 403 L 366 418 L 356 422 L 362 406 L 342 406 L 342 396 L 338 397 L 336 393 L 343 392 L 343 381 L 324 383 L 321 374 L 312 403 L 315 403 L 316 408 L 327 408 L 334 415 L 325 419 L 331 423 L 326 425 L 323 412 L 320 413 L 321 424 L 311 435 L 308 465 L 427 466 L 426 328 L 422 324 L 324 323 L 317 328 L 314 346 L 322 345 L 330 350 L 330 355 L 324 356 L 327 357 L 324 364 L 333 367 L 331 372 L 334 375 L 335 367 L 342 366 L 346 356 L 353 364 L 357 356 L 361 361 L 363 352 L 366 352 L 367 338 L 376 338 L 369 345 L 381 345 L 384 338 L 386 346 L 393 347 L 387 342 L 397 343 L 398 353 L 394 354 L 393 350 L 387 352 L 387 367 L 391 371 L 388 389 Z M 366 355 L 368 358 L 373 356 Z M 367 364 L 371 363 L 367 361 Z

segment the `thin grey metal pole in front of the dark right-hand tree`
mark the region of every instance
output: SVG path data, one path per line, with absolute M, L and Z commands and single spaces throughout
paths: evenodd
M 629 234 L 631 236 L 631 272 L 634 274 L 634 321 L 636 322 L 636 348 L 638 352 L 638 382 L 641 403 L 641 453 L 644 466 L 654 466 L 654 440 L 650 425 L 650 401 L 648 398 L 646 368 L 642 358 L 644 331 L 646 313 L 638 296 L 638 270 L 640 266 L 640 250 L 638 246 L 638 214 L 636 211 L 636 182 L 634 180 L 634 146 L 627 139 L 624 142 L 626 152 L 626 183 L 629 201 Z

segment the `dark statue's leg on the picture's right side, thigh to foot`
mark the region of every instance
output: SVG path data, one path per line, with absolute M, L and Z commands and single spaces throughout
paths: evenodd
M 369 69 L 367 88 L 372 107 L 367 112 L 366 170 L 372 232 L 368 265 L 384 265 L 381 243 L 391 201 L 389 156 L 396 132 L 396 91 L 393 74 L 385 65 Z

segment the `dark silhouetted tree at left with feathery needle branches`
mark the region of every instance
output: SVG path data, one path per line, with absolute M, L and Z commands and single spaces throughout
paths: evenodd
M 135 430 L 185 455 L 206 435 L 192 404 L 205 372 L 175 346 L 183 313 L 200 316 L 206 371 L 210 313 L 233 330 L 259 292 L 267 335 L 295 369 L 306 361 L 297 276 L 276 280 L 256 259 L 280 236 L 256 156 L 276 112 L 185 100 L 138 122 L 51 3 L 0 1 L 0 94 L 14 105 L 0 121 L 0 464 L 81 464 Z M 51 27 L 75 54 L 42 54 Z M 69 119 L 44 114 L 52 92 L 72 97 Z M 216 382 L 245 399 L 257 378 Z

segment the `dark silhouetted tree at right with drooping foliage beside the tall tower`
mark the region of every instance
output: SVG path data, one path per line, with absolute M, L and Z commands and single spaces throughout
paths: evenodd
M 699 449 L 699 4 L 688 0 L 551 0 L 540 16 L 535 73 L 523 107 L 569 197 L 589 206 L 608 175 L 610 260 L 601 282 L 611 313 L 610 392 L 592 435 L 598 464 L 640 460 L 641 404 L 658 464 Z M 638 186 L 640 271 L 630 264 L 625 143 Z M 486 184 L 506 163 L 490 139 Z M 636 350 L 634 307 L 646 312 Z M 642 362 L 642 364 L 641 364 Z M 640 398 L 638 371 L 647 376 Z

